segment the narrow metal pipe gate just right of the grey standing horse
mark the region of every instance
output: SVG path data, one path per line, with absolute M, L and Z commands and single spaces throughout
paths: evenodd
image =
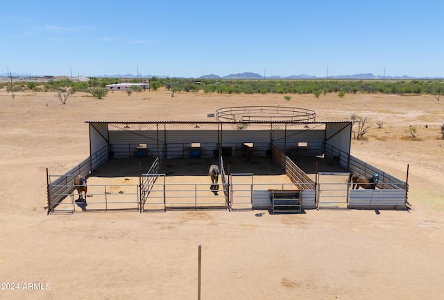
M 253 173 L 230 174 L 230 208 L 253 209 Z

